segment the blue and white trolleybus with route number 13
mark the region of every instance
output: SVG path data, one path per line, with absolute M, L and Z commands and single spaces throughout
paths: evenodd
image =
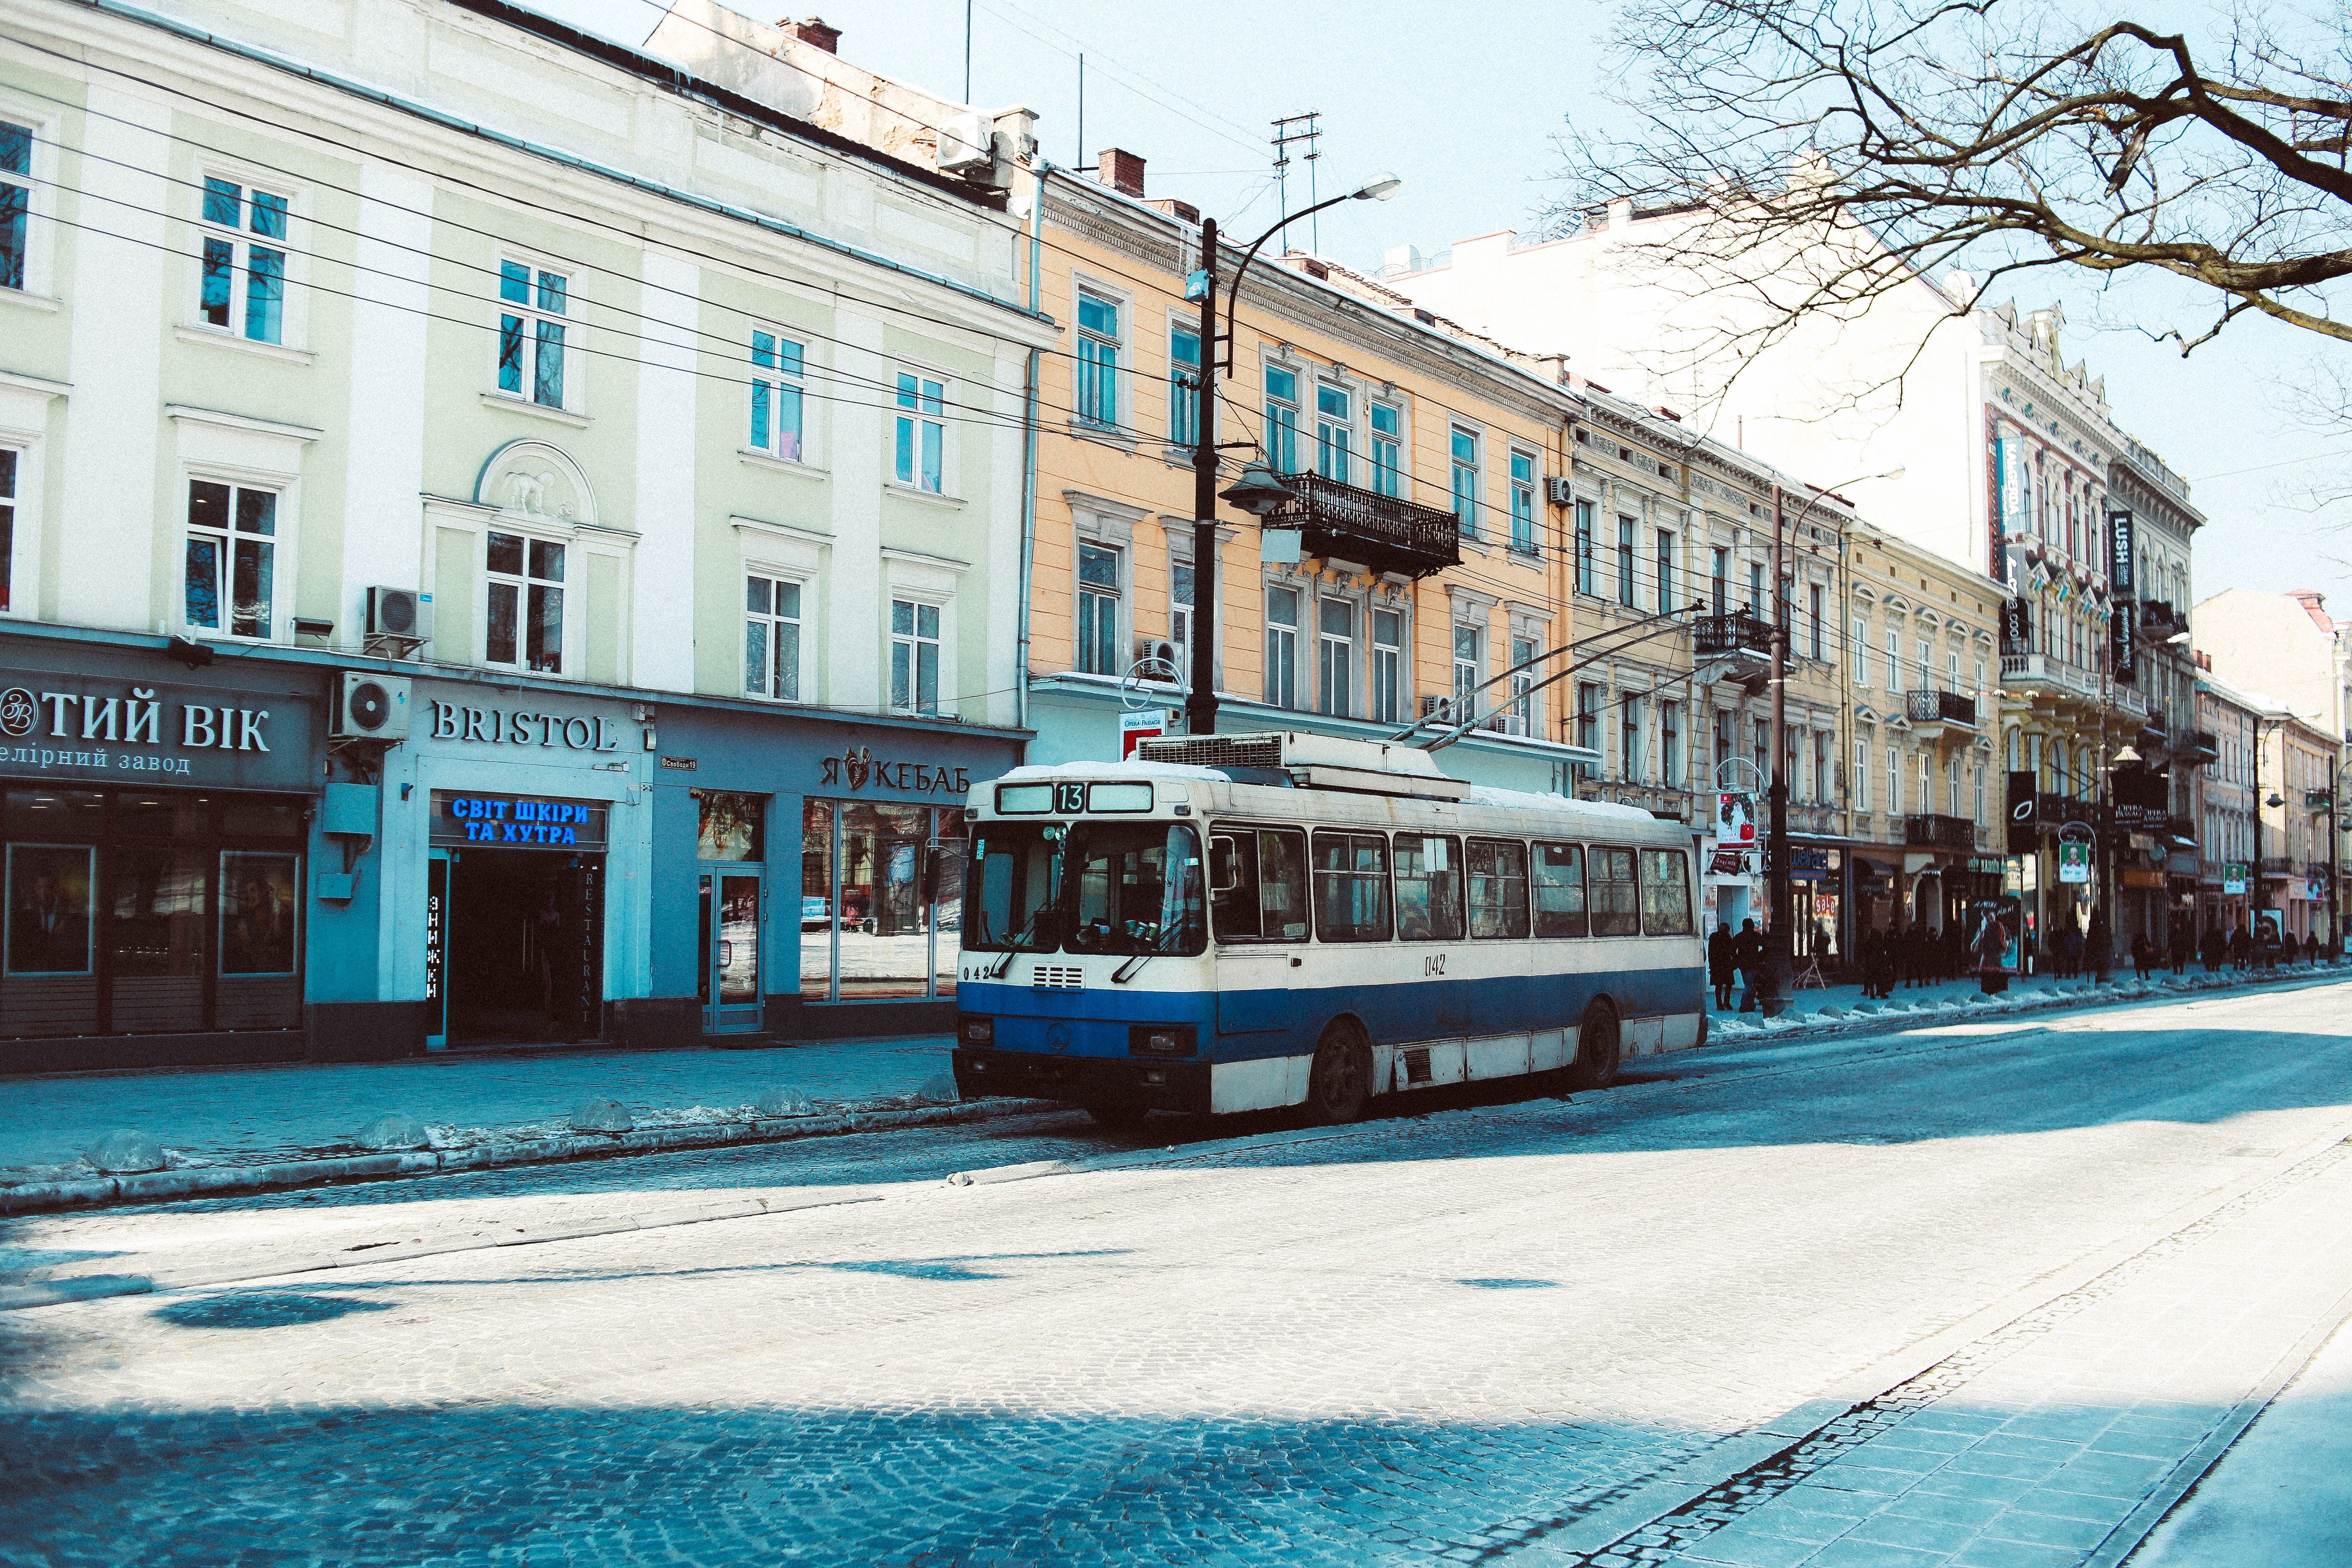
M 1352 1121 L 1705 1037 L 1691 837 L 1649 811 L 1251 733 L 1016 769 L 967 816 L 964 1095 Z

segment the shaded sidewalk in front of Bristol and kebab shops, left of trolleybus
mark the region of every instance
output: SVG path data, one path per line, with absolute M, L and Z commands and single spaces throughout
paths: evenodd
M 393 1063 L 287 1063 L 12 1079 L 0 1119 L 0 1187 L 85 1173 L 80 1154 L 139 1128 L 174 1168 L 261 1166 L 353 1154 L 374 1117 L 416 1117 L 435 1150 L 572 1133 L 581 1100 L 619 1100 L 637 1128 L 748 1119 L 769 1091 L 809 1112 L 906 1107 L 948 1072 L 948 1037 L 826 1041 L 753 1051 L 501 1051 Z

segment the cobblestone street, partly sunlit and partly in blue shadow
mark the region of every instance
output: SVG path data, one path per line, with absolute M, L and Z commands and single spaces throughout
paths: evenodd
M 0 1561 L 2119 1563 L 2345 1312 L 2347 1001 L 12 1220 L 158 1288 L 0 1314 Z

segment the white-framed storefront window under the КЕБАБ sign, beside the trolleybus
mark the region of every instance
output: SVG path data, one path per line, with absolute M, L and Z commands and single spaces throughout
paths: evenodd
M 931 846 L 946 844 L 934 856 Z M 800 994 L 948 997 L 962 940 L 962 811 L 863 799 L 802 809 Z

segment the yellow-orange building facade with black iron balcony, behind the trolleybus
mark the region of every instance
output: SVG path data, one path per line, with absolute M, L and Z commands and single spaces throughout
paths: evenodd
M 1122 715 L 1181 722 L 1190 675 L 1202 348 L 1183 277 L 1202 230 L 1190 207 L 1143 200 L 1143 160 L 1105 153 L 1101 172 L 1042 174 L 1030 247 L 1042 306 L 1065 324 L 1037 390 L 1037 762 L 1120 755 Z M 1221 256 L 1225 280 L 1237 261 Z M 1515 362 L 1369 277 L 1284 254 L 1242 280 L 1216 390 L 1218 442 L 1247 444 L 1223 454 L 1221 487 L 1261 456 L 1301 496 L 1272 522 L 1303 524 L 1289 562 L 1268 545 L 1282 529 L 1221 512 L 1218 729 L 1374 738 L 1461 701 L 1482 719 L 1446 750 L 1465 778 L 1566 790 L 1597 762 L 1559 738 L 1564 684 L 1536 689 L 1576 635 L 1559 480 L 1588 404 L 1557 364 Z

